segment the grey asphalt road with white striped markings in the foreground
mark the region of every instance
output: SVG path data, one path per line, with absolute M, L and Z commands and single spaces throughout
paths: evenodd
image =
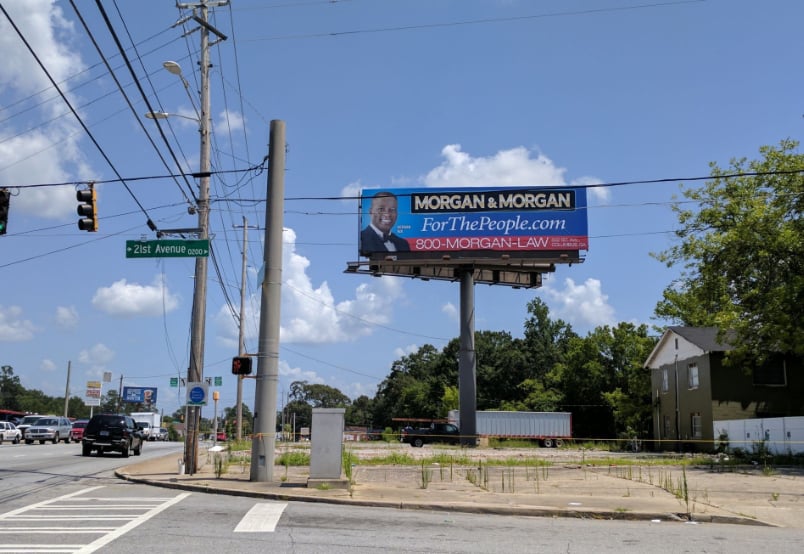
M 141 458 L 179 452 L 148 443 Z M 800 530 L 266 501 L 123 482 L 134 459 L 0 446 L 0 552 L 797 552 Z

